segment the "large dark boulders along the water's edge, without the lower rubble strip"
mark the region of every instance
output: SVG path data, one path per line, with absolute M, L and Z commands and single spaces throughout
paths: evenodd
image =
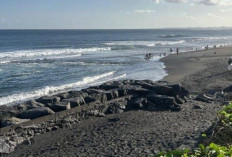
M 81 91 L 45 96 L 15 106 L 0 106 L 0 125 L 5 127 L 31 119 L 95 103 L 103 113 L 120 113 L 132 109 L 181 109 L 189 93 L 176 85 L 160 85 L 152 81 L 125 80 L 104 83 Z

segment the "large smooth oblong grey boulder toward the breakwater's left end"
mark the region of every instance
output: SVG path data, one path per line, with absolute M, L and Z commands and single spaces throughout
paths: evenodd
M 39 118 L 39 117 L 46 116 L 46 115 L 53 114 L 53 113 L 54 111 L 52 111 L 48 107 L 39 107 L 39 108 L 24 111 L 19 115 L 19 117 L 23 119 L 35 119 L 35 118 Z

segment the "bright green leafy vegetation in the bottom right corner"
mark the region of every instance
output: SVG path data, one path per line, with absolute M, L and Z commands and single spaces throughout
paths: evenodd
M 218 113 L 218 123 L 209 137 L 202 134 L 203 143 L 194 151 L 172 150 L 155 157 L 232 157 L 232 103 Z

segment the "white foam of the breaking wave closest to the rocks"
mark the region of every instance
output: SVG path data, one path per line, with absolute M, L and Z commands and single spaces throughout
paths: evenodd
M 27 101 L 27 100 L 37 98 L 37 97 L 41 97 L 44 95 L 51 95 L 51 94 L 59 93 L 62 91 L 67 91 L 70 89 L 81 88 L 82 86 L 89 85 L 91 83 L 95 83 L 98 80 L 113 76 L 114 74 L 115 74 L 115 71 L 111 71 L 111 72 L 104 73 L 101 75 L 96 75 L 96 76 L 92 76 L 92 77 L 85 77 L 85 78 L 83 78 L 83 80 L 75 82 L 75 83 L 71 83 L 71 84 L 64 84 L 64 85 L 57 86 L 57 87 L 56 86 L 47 86 L 45 88 L 35 90 L 35 91 L 9 95 L 9 96 L 0 98 L 0 105 L 20 103 L 20 102 Z

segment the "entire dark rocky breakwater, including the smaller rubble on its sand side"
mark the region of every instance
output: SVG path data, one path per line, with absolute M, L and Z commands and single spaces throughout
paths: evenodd
M 0 129 L 0 153 L 10 153 L 18 144 L 31 144 L 35 135 L 71 127 L 89 117 L 131 110 L 180 111 L 188 99 L 188 91 L 179 84 L 124 80 L 45 96 L 15 106 L 0 106 L 0 125 L 2 128 L 10 126 L 7 132 Z M 65 114 L 59 116 L 61 112 Z M 55 119 L 34 123 L 36 119 L 57 113 Z M 33 125 L 28 126 L 28 122 Z

